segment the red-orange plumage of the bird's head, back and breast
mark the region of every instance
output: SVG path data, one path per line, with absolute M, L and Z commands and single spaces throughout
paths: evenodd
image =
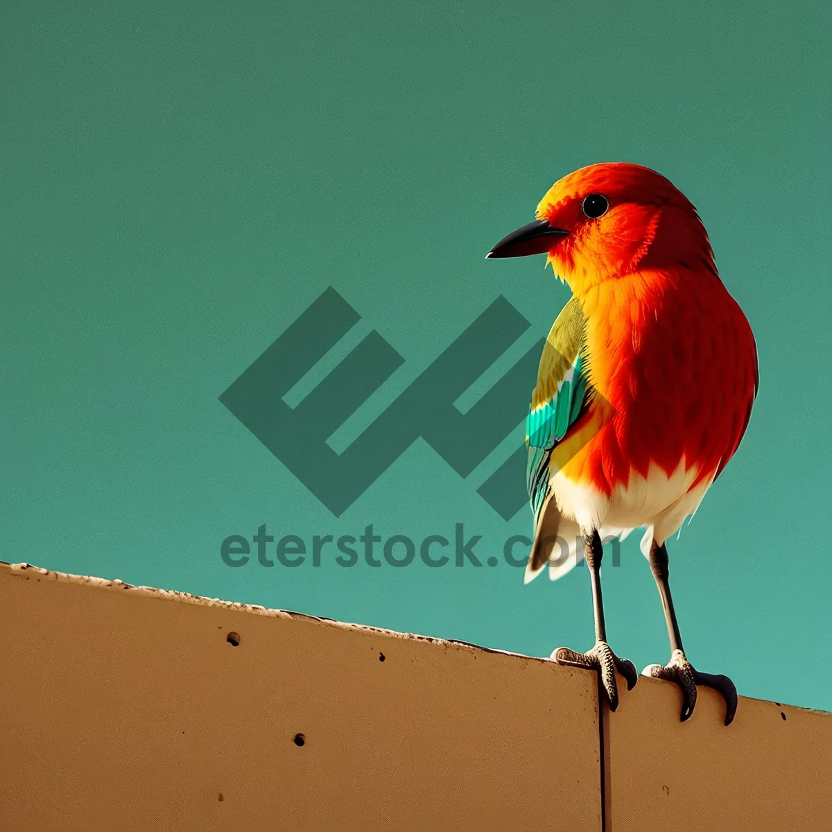
M 595 222 L 579 215 L 585 193 L 610 201 Z M 579 229 L 548 260 L 582 301 L 589 379 L 614 413 L 563 473 L 607 494 L 651 463 L 668 476 L 695 464 L 691 488 L 716 476 L 748 424 L 757 357 L 696 209 L 654 171 L 607 164 L 562 179 L 537 216 Z M 591 404 L 584 418 L 606 416 Z

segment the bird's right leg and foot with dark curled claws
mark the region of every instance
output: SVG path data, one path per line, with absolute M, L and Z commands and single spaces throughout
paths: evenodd
M 681 721 L 691 718 L 694 706 L 696 706 L 696 686 L 705 685 L 712 687 L 722 694 L 726 701 L 726 726 L 730 725 L 736 713 L 736 688 L 734 682 L 728 676 L 714 676 L 711 673 L 700 673 L 687 661 L 685 648 L 681 644 L 679 635 L 679 624 L 676 622 L 676 611 L 673 609 L 673 598 L 671 597 L 670 570 L 667 564 L 667 548 L 653 541 L 650 548 L 650 569 L 653 577 L 656 578 L 656 587 L 659 587 L 661 606 L 665 611 L 667 622 L 667 636 L 671 641 L 671 661 L 666 665 L 648 665 L 644 668 L 644 676 L 653 676 L 656 679 L 665 679 L 675 682 L 681 687 L 684 701 L 681 708 Z

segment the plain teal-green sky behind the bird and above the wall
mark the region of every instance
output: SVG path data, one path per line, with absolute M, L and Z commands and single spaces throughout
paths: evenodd
M 500 294 L 533 324 L 508 369 L 568 294 L 542 258 L 483 255 L 567 172 L 635 161 L 701 211 L 760 349 L 745 441 L 669 547 L 688 656 L 832 709 L 828 3 L 0 7 L 2 559 L 532 655 L 590 646 L 586 570 L 524 587 L 502 558 L 220 561 L 261 523 L 308 541 L 463 522 L 500 555 L 530 514 L 503 522 L 476 488 L 520 428 L 467 480 L 416 443 L 334 518 L 217 397 L 330 284 L 363 317 L 350 344 L 376 328 L 406 359 L 340 447 Z M 667 643 L 638 537 L 604 589 L 641 667 Z

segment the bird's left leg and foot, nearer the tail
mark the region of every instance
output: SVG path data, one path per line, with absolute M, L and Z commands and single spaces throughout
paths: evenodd
M 610 710 L 618 707 L 618 686 L 616 672 L 626 679 L 626 689 L 630 691 L 638 681 L 636 666 L 628 659 L 620 659 L 610 650 L 607 644 L 607 629 L 604 626 L 604 602 L 601 595 L 601 559 L 604 548 L 598 532 L 583 538 L 584 557 L 589 567 L 589 578 L 592 582 L 592 609 L 595 613 L 595 646 L 586 653 L 577 653 L 568 647 L 558 647 L 552 653 L 552 659 L 559 665 L 572 667 L 591 667 L 601 674 L 601 682 Z

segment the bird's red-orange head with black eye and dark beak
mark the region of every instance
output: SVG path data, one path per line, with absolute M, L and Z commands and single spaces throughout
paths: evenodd
M 576 294 L 636 270 L 705 265 L 716 272 L 705 228 L 684 194 L 656 171 L 626 162 L 564 176 L 537 206 L 537 220 L 487 256 L 534 254 L 547 254 Z

